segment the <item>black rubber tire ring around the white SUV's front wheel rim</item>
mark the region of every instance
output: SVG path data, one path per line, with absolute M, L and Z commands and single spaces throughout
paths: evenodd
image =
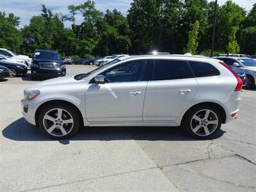
M 73 123 L 72 129 L 65 136 L 54 136 L 52 134 L 49 134 L 49 132 L 47 132 L 45 127 L 44 127 L 44 116 L 45 116 L 45 114 L 47 112 L 51 111 L 52 109 L 56 109 L 56 108 L 64 109 L 65 111 L 70 113 L 70 115 L 73 118 L 74 123 Z M 42 132 L 44 132 L 44 134 L 46 136 L 48 136 L 49 138 L 52 138 L 54 140 L 63 140 L 63 139 L 70 138 L 71 136 L 76 134 L 79 127 L 81 126 L 81 122 L 82 122 L 82 119 L 81 119 L 81 115 L 80 115 L 79 111 L 77 111 L 77 109 L 74 108 L 74 106 L 72 106 L 71 104 L 65 104 L 65 103 L 62 103 L 62 102 L 59 102 L 59 103 L 56 103 L 56 104 L 48 104 L 47 106 L 45 106 L 40 111 L 40 115 L 38 116 L 38 125 L 39 125 L 40 129 L 42 130 Z M 56 131 L 58 131 L 58 130 L 56 130 Z

